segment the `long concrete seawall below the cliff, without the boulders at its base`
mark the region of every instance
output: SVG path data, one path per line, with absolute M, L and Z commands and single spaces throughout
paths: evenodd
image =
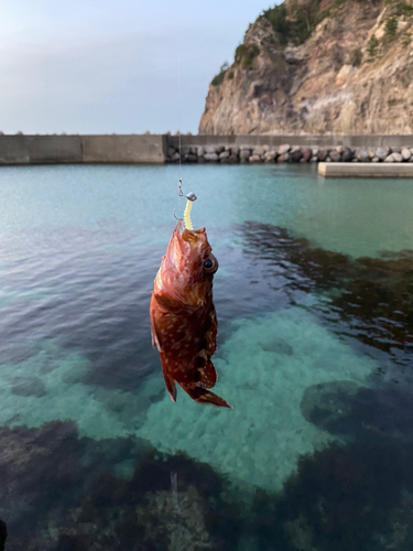
M 182 136 L 183 148 L 401 148 L 413 147 L 413 136 Z M 0 136 L 0 165 L 59 163 L 164 163 L 180 138 L 166 134 Z M 224 148 L 222 148 L 224 149 Z

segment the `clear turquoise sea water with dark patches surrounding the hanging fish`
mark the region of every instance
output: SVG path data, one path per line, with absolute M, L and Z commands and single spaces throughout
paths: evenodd
M 231 411 L 173 404 L 150 343 L 180 176 Z M 313 166 L 1 169 L 7 549 L 413 549 L 412 210 Z

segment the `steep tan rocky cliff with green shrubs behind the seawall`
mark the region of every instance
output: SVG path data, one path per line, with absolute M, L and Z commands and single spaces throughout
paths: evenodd
M 199 133 L 413 133 L 413 0 L 285 0 L 209 85 Z

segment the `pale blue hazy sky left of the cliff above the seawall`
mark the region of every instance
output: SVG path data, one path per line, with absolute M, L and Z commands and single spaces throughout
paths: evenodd
M 0 0 L 4 133 L 196 133 L 268 0 Z

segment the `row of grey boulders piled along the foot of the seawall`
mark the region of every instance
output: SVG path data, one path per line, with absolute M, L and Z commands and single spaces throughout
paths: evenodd
M 167 163 L 308 163 L 308 162 L 360 162 L 360 163 L 413 163 L 413 147 L 403 148 L 332 148 L 300 147 L 287 143 L 273 147 L 259 145 L 182 145 L 180 150 L 170 145 Z

